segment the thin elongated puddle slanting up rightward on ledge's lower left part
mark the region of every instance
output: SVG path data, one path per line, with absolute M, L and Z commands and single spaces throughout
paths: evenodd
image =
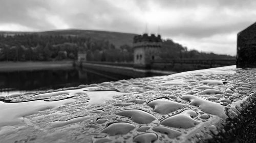
M 75 118 L 72 118 L 72 119 L 69 119 L 69 120 L 66 120 L 66 121 L 55 121 L 55 122 L 52 122 L 50 124 L 50 128 L 62 127 L 62 126 L 66 126 L 66 125 L 69 125 L 69 124 L 84 121 L 84 120 L 87 120 L 87 119 L 91 119 L 91 118 L 92 117 L 89 117 L 89 116 L 81 116 L 81 117 L 75 117 Z

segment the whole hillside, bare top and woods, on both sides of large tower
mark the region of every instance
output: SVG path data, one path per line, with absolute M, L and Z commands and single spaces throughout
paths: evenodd
M 0 31 L 0 61 L 75 60 L 78 51 L 84 51 L 88 61 L 132 62 L 134 36 L 136 34 L 71 29 L 44 32 Z M 162 60 L 235 58 L 188 50 L 170 39 L 163 40 L 159 52 Z

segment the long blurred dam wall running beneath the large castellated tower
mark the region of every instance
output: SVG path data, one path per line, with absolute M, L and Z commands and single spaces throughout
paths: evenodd
M 77 62 L 83 68 L 120 74 L 132 75 L 133 77 L 169 75 L 182 71 L 191 71 L 207 68 L 235 65 L 236 60 L 203 60 L 203 59 L 180 59 L 168 61 L 154 61 L 150 65 L 138 65 L 133 63 L 115 63 L 115 62 Z

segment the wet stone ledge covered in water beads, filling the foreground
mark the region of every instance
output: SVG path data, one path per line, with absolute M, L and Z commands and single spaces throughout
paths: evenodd
M 0 97 L 0 142 L 255 142 L 256 69 Z

